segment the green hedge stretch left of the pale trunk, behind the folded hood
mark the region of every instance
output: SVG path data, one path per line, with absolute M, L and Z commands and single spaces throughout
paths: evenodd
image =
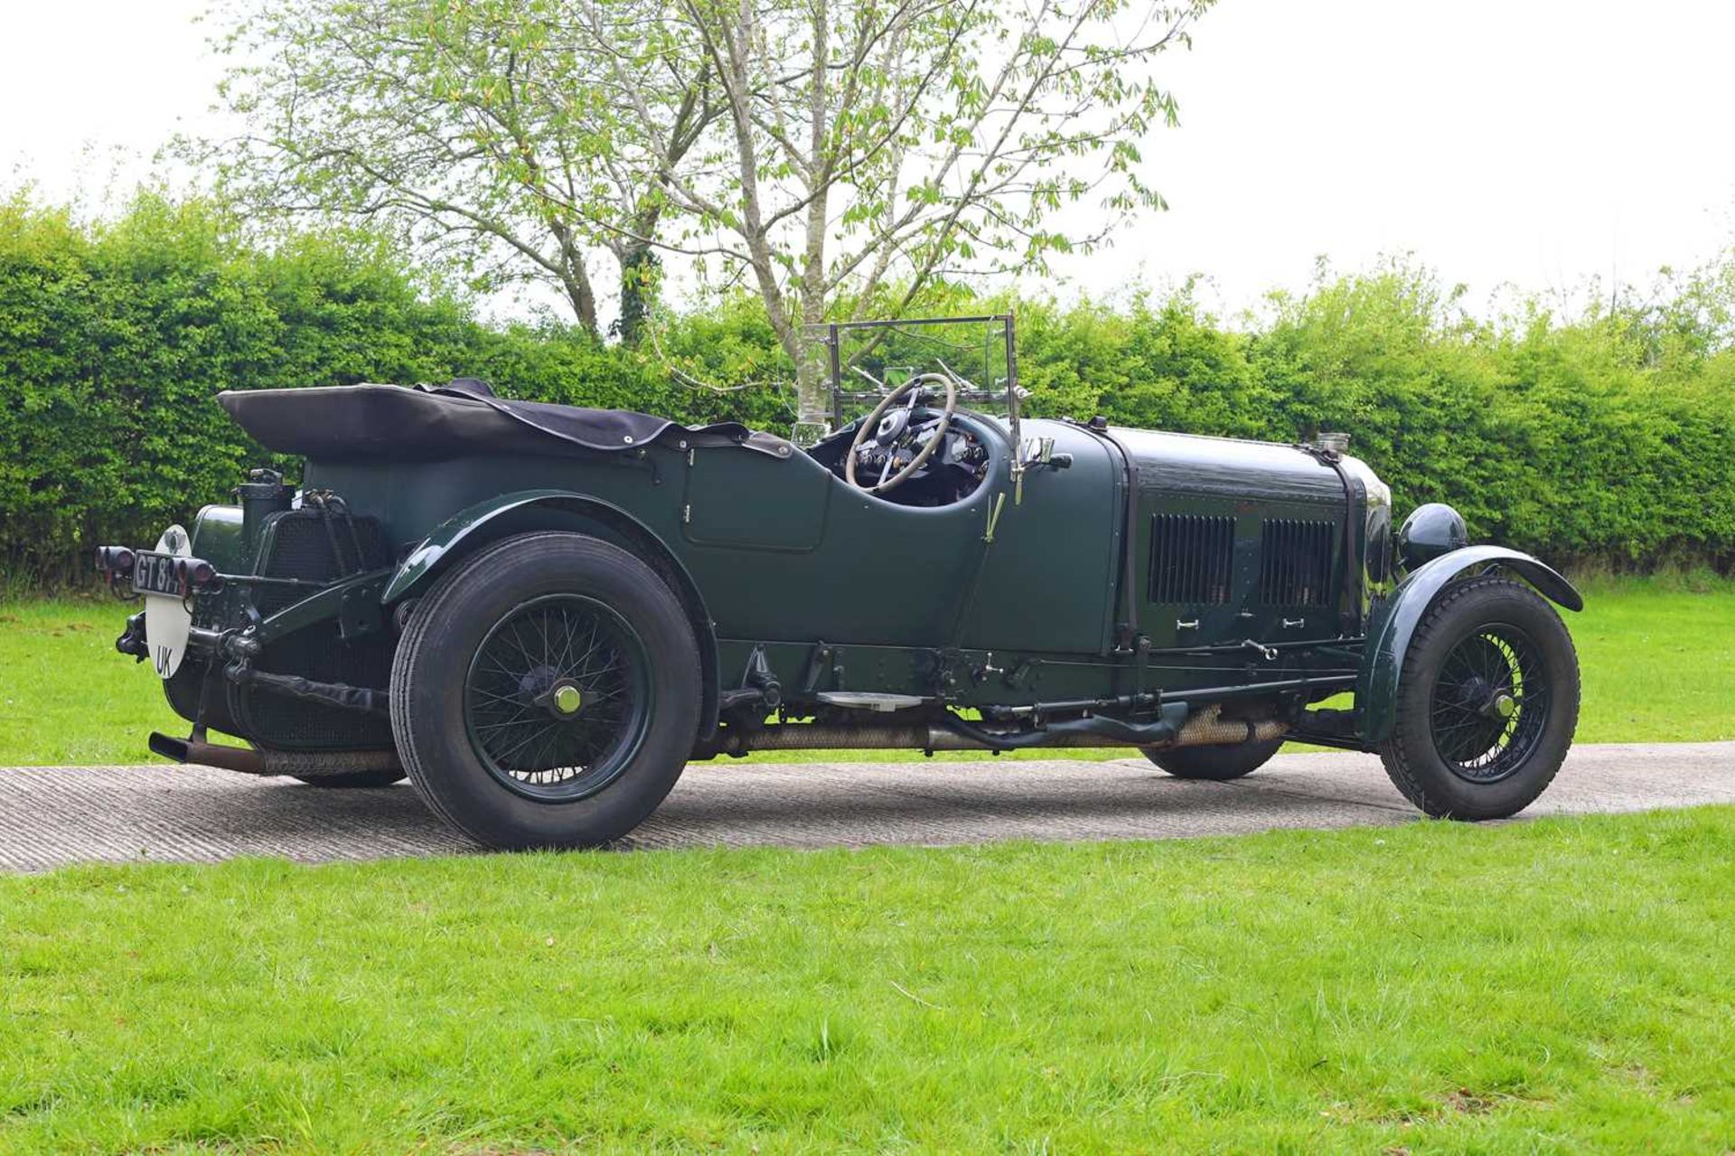
M 0 203 L 0 571 L 80 576 L 95 542 L 149 545 L 267 455 L 213 406 L 222 389 L 446 382 L 776 424 L 774 394 L 694 394 L 574 328 L 486 328 L 423 295 L 380 245 L 298 236 L 241 248 L 205 205 L 141 196 L 78 226 Z

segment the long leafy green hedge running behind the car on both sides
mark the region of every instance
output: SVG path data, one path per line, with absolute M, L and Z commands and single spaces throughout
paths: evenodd
M 763 314 L 730 299 L 652 354 L 562 326 L 489 326 L 383 248 L 302 236 L 250 250 L 201 205 L 141 198 L 80 224 L 0 203 L 0 568 L 83 575 L 264 458 L 212 403 L 227 387 L 475 375 L 501 392 L 777 429 Z M 1704 285 L 1695 283 L 1699 290 Z M 944 295 L 937 311 L 987 304 Z M 1471 321 L 1416 269 L 1320 279 L 1237 328 L 1188 292 L 1015 302 L 1039 413 L 1294 439 L 1343 429 L 1400 509 L 1445 500 L 1478 536 L 1622 566 L 1735 550 L 1735 356 L 1702 293 L 1679 307 Z M 1709 319 L 1707 319 L 1709 318 Z M 691 370 L 671 375 L 666 363 Z M 704 380 L 732 389 L 687 384 Z

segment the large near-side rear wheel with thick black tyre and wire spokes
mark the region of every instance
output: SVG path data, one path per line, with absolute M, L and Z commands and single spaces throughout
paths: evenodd
M 465 559 L 415 608 L 392 732 L 429 807 L 489 847 L 595 847 L 656 811 L 692 753 L 699 653 L 632 554 L 567 533 Z

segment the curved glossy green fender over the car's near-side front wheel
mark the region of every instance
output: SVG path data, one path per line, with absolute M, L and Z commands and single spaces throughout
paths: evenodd
M 1417 568 L 1374 613 L 1367 628 L 1367 649 L 1362 654 L 1362 670 L 1355 684 L 1355 705 L 1362 715 L 1362 738 L 1369 745 L 1391 738 L 1404 654 L 1409 651 L 1421 620 L 1428 614 L 1428 608 L 1433 606 L 1447 583 L 1478 566 L 1509 569 L 1567 609 L 1584 609 L 1584 597 L 1560 571 L 1506 547 L 1464 547 Z

